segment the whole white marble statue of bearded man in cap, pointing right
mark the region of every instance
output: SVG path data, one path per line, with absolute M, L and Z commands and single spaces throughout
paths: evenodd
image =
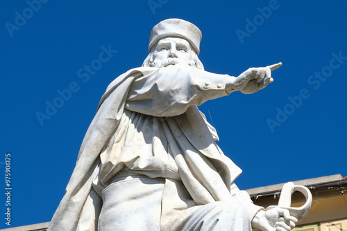
M 234 181 L 241 169 L 216 144 L 197 106 L 255 93 L 281 64 L 238 77 L 204 71 L 201 31 L 156 25 L 142 67 L 107 88 L 49 230 L 290 230 L 297 219 L 264 210 Z M 263 80 L 263 81 L 262 81 Z

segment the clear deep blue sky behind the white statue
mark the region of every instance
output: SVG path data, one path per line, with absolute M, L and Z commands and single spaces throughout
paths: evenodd
M 105 88 L 142 65 L 151 29 L 171 17 L 201 29 L 206 71 L 283 63 L 266 89 L 200 107 L 243 169 L 241 189 L 347 176 L 347 1 L 38 2 L 0 10 L 0 172 L 5 192 L 10 152 L 11 227 L 50 221 Z M 0 195 L 0 228 L 9 228 Z

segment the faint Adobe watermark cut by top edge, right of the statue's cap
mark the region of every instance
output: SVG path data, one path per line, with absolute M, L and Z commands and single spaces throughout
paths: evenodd
M 268 6 L 264 6 L 263 8 L 257 7 L 257 12 L 259 12 L 259 14 L 255 15 L 252 20 L 248 18 L 245 19 L 245 30 L 239 28 L 235 30 L 241 44 L 244 44 L 245 37 L 251 37 L 251 35 L 257 31 L 257 28 L 264 24 L 265 19 L 271 17 L 273 10 L 278 10 L 278 8 L 280 8 L 280 3 L 278 3 L 277 0 L 270 0 Z

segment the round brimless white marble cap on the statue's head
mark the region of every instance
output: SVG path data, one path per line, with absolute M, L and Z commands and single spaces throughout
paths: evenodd
M 183 19 L 166 19 L 152 29 L 149 37 L 149 52 L 164 37 L 181 37 L 189 41 L 196 54 L 200 53 L 201 31 L 189 21 Z

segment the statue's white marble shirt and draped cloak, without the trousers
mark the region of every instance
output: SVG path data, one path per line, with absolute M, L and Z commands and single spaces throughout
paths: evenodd
M 261 208 L 233 183 L 242 171 L 196 107 L 228 95 L 227 78 L 183 64 L 117 77 L 101 98 L 49 230 L 97 230 L 103 192 L 124 172 L 162 181 L 158 230 L 179 230 L 182 212 L 219 201 L 241 205 L 249 224 Z

